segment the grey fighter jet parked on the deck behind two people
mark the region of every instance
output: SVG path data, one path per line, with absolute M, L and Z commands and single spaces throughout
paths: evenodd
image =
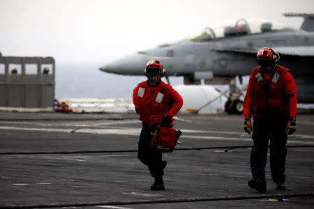
M 151 59 L 160 60 L 166 76 L 184 77 L 184 84 L 229 84 L 225 102 L 229 114 L 241 113 L 244 89 L 237 88 L 242 76 L 257 66 L 257 51 L 272 47 L 281 54 L 278 62 L 289 68 L 297 84 L 298 102 L 314 102 L 314 14 L 285 13 L 303 17 L 300 29 L 281 26 L 267 20 L 240 19 L 216 24 L 172 44 L 136 52 L 107 63 L 100 70 L 120 75 L 143 75 L 143 66 Z M 126 64 L 127 63 L 127 64 Z

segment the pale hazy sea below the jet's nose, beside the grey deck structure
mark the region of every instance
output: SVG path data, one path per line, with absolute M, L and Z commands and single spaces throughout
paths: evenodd
M 132 99 L 133 89 L 147 79 L 143 76 L 115 75 L 98 70 L 101 64 L 56 64 L 55 98 Z M 163 78 L 163 81 L 166 80 Z M 183 77 L 170 77 L 172 86 Z

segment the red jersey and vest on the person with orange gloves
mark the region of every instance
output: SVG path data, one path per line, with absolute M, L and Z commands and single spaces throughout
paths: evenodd
M 276 65 L 271 73 L 254 68 L 244 98 L 244 118 L 297 116 L 297 88 L 287 68 Z

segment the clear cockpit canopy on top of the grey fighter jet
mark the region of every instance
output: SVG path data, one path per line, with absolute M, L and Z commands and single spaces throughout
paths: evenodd
M 278 31 L 296 31 L 290 27 L 281 26 L 274 22 L 257 19 L 239 19 L 236 21 L 229 21 L 220 24 L 214 24 L 202 31 L 198 31 L 193 36 L 186 38 L 186 40 L 193 41 L 209 41 L 215 38 L 228 38 L 232 36 L 246 36 L 256 33 L 269 33 Z

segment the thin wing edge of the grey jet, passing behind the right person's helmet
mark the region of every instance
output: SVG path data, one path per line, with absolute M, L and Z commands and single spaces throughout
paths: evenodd
M 260 48 L 220 48 L 217 52 L 235 52 L 244 54 L 257 54 Z M 314 56 L 314 46 L 300 47 L 272 47 L 275 52 L 289 56 Z

